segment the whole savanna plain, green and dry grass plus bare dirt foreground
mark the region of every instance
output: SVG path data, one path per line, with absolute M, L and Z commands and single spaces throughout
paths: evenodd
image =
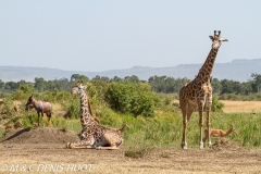
M 162 100 L 164 104 L 156 109 L 154 116 L 147 117 L 92 103 L 101 125 L 129 125 L 120 150 L 66 149 L 67 141 L 78 139 L 80 123 L 78 119 L 61 116 L 66 112 L 61 103 L 53 104 L 51 127 L 47 127 L 46 116 L 39 127 L 34 126 L 36 111 L 22 110 L 9 114 L 15 121 L 23 119 L 23 126 L 5 130 L 4 126 L 12 123 L 2 114 L 0 173 L 261 173 L 261 101 L 221 100 L 225 105 L 223 112 L 211 113 L 212 127 L 227 130 L 233 125 L 237 132 L 212 138 L 212 147 L 201 150 L 199 116 L 194 112 L 188 126 L 188 149 L 183 150 L 177 100 Z M 26 101 L 15 102 L 23 107 Z

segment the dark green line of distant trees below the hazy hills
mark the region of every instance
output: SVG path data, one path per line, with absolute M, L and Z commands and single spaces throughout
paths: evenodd
M 130 82 L 130 83 L 148 83 L 151 87 L 151 90 L 154 92 L 163 94 L 174 94 L 178 92 L 179 89 L 186 84 L 189 83 L 188 78 L 174 78 L 167 76 L 151 76 L 147 82 L 140 80 L 136 75 L 126 76 L 124 78 L 114 76 L 109 78 L 105 76 L 96 76 L 89 79 L 85 75 L 73 74 L 70 79 L 60 78 L 53 80 L 46 80 L 42 77 L 36 77 L 34 83 L 20 80 L 20 82 L 2 82 L 0 79 L 0 91 L 2 92 L 13 92 L 20 88 L 21 85 L 27 85 L 36 92 L 41 91 L 54 91 L 54 90 L 65 90 L 69 91 L 73 83 L 77 79 L 83 79 L 84 82 L 100 82 L 100 83 L 120 83 L 120 82 Z M 217 95 L 223 94 L 236 94 L 236 95 L 249 95 L 257 94 L 261 91 L 261 74 L 251 74 L 248 82 L 235 82 L 229 79 L 217 79 L 212 78 L 211 80 L 213 92 Z

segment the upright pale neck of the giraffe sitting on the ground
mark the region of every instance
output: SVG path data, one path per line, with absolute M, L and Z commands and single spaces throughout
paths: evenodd
M 80 123 L 82 126 L 85 127 L 87 124 L 95 122 L 89 102 L 88 102 L 88 97 L 85 92 L 80 94 Z

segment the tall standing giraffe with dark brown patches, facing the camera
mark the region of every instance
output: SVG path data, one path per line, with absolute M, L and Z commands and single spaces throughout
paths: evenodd
M 210 82 L 210 76 L 212 73 L 212 69 L 214 65 L 215 57 L 217 54 L 219 48 L 222 41 L 228 41 L 227 39 L 222 39 L 219 34 L 214 30 L 214 36 L 210 36 L 212 40 L 212 47 L 210 53 L 204 61 L 203 65 L 198 72 L 198 75 L 194 80 L 185 85 L 179 91 L 179 105 L 183 112 L 183 139 L 182 139 L 182 148 L 187 149 L 186 141 L 186 132 L 189 119 L 194 112 L 194 109 L 198 105 L 199 111 L 199 127 L 200 127 L 200 149 L 203 148 L 202 141 L 202 126 L 203 126 L 203 109 L 206 104 L 207 111 L 207 129 L 208 129 L 208 146 L 211 146 L 210 140 L 210 111 L 212 105 L 212 87 Z

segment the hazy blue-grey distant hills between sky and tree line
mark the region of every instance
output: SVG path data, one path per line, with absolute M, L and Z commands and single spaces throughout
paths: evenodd
M 125 77 L 136 75 L 140 79 L 147 80 L 149 77 L 158 75 L 177 77 L 187 77 L 192 79 L 202 64 L 181 64 L 171 67 L 147 67 L 134 66 L 125 70 L 111 70 L 103 72 L 78 72 L 63 71 L 48 67 L 24 67 L 24 66 L 0 66 L 0 79 L 3 82 L 17 82 L 21 79 L 34 82 L 35 77 L 44 77 L 45 79 L 71 78 L 72 74 L 83 74 L 89 78 L 99 76 L 107 77 Z M 238 82 L 247 82 L 251 73 L 261 74 L 261 59 L 253 60 L 234 60 L 228 63 L 215 63 L 212 76 L 219 79 L 233 79 Z

